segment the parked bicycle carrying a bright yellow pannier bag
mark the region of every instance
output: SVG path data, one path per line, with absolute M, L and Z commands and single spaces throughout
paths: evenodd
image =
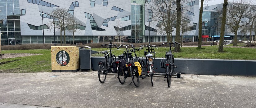
M 138 87 L 139 84 L 140 84 L 139 77 L 141 77 L 142 79 L 145 78 L 146 65 L 145 65 L 143 59 L 140 59 L 140 58 L 137 56 L 136 51 L 139 51 L 139 50 L 142 49 L 143 47 L 138 48 L 138 49 L 135 49 L 135 47 L 133 46 L 133 44 L 129 44 L 129 45 L 120 45 L 120 46 L 118 47 L 118 49 L 121 48 L 122 46 L 125 46 L 125 47 L 126 47 L 126 51 L 125 51 L 124 53 L 125 53 L 125 55 L 127 56 L 127 57 L 126 57 L 126 58 L 127 58 L 127 65 L 128 65 L 128 70 L 129 70 L 129 72 L 130 72 L 130 76 L 132 77 L 132 82 L 134 83 L 135 86 Z M 129 50 L 129 48 L 128 48 L 129 46 L 132 47 L 131 50 Z M 132 57 L 132 52 L 134 52 L 134 55 L 135 55 L 134 58 Z M 142 57 L 142 58 L 143 58 L 143 57 Z M 136 69 L 134 69 L 134 68 L 135 68 L 135 64 L 134 64 L 134 60 L 135 60 L 135 59 L 136 59 L 137 62 L 140 64 L 140 66 L 141 66 L 140 68 L 141 68 L 142 72 L 144 71 L 144 74 L 141 73 L 141 76 L 136 75 L 136 72 L 135 72 Z M 130 84 L 132 84 L 132 82 L 131 82 Z

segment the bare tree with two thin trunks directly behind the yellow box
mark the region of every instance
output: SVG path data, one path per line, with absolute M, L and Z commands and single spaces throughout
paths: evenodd
M 62 31 L 64 31 L 64 46 L 66 46 L 66 41 L 65 41 L 65 25 L 67 24 L 67 19 L 68 16 L 70 15 L 66 8 L 58 7 L 50 12 L 50 15 L 53 15 L 56 19 L 59 20 L 59 22 L 55 23 L 56 28 L 60 28 L 61 31 L 61 36 L 62 36 Z M 61 46 L 62 46 L 62 37 L 61 37 Z

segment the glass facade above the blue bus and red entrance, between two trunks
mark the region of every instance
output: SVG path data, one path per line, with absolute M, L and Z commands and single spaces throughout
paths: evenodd
M 203 11 L 202 35 L 218 35 L 218 14 L 216 11 Z

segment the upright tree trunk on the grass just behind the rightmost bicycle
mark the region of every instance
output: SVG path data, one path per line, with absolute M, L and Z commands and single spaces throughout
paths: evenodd
M 177 23 L 176 23 L 176 35 L 175 35 L 175 41 L 180 42 L 180 31 L 181 31 L 181 0 L 176 1 L 177 5 Z M 179 44 L 175 44 L 174 52 L 180 52 L 181 48 Z

